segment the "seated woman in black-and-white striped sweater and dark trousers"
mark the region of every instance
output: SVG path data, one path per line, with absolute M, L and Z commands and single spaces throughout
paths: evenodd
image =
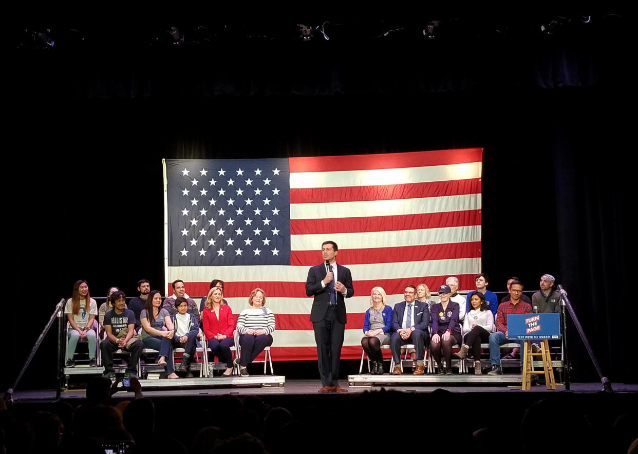
M 256 288 L 248 297 L 249 309 L 244 309 L 237 319 L 241 358 L 235 358 L 239 366 L 239 374 L 248 377 L 246 366 L 262 353 L 263 349 L 272 345 L 272 332 L 275 330 L 275 315 L 266 305 L 266 293 Z

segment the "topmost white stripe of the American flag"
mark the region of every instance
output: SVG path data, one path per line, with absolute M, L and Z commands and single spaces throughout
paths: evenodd
M 338 172 L 292 172 L 290 188 L 383 186 L 386 184 L 465 180 L 481 175 L 481 163 Z

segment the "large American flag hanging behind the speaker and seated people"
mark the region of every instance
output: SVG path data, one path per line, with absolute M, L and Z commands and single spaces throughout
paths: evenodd
M 166 282 L 206 295 L 212 279 L 237 316 L 255 287 L 276 314 L 272 357 L 316 360 L 306 297 L 321 244 L 352 271 L 342 358 L 360 358 L 370 292 L 450 275 L 475 288 L 481 257 L 482 149 L 283 159 L 165 159 Z

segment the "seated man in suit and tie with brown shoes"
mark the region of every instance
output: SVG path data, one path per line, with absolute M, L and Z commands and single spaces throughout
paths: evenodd
M 430 309 L 426 302 L 416 300 L 417 288 L 413 285 L 406 286 L 403 298 L 405 301 L 395 304 L 393 311 L 390 338 L 390 350 L 394 359 L 392 375 L 401 375 L 401 346 L 405 344 L 414 344 L 417 351 L 417 369 L 413 374 L 423 375 L 426 370 L 423 352 L 430 342 Z

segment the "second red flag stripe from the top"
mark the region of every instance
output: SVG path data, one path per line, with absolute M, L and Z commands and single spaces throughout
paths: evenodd
M 290 203 L 397 200 L 404 198 L 480 194 L 480 192 L 480 178 L 427 183 L 386 184 L 383 186 L 291 188 Z

